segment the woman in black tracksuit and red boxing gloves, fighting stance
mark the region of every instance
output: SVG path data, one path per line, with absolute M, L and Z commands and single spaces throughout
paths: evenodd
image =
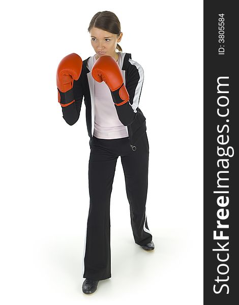
M 110 196 L 117 158 L 125 174 L 135 243 L 154 250 L 147 226 L 146 196 L 149 145 L 145 117 L 138 108 L 143 69 L 118 45 L 123 33 L 109 11 L 92 18 L 88 32 L 96 52 L 83 62 L 73 53 L 57 69 L 58 101 L 69 125 L 79 118 L 82 99 L 91 153 L 88 163 L 89 214 L 83 255 L 82 291 L 96 291 L 111 277 Z M 116 52 L 116 49 L 118 52 Z

